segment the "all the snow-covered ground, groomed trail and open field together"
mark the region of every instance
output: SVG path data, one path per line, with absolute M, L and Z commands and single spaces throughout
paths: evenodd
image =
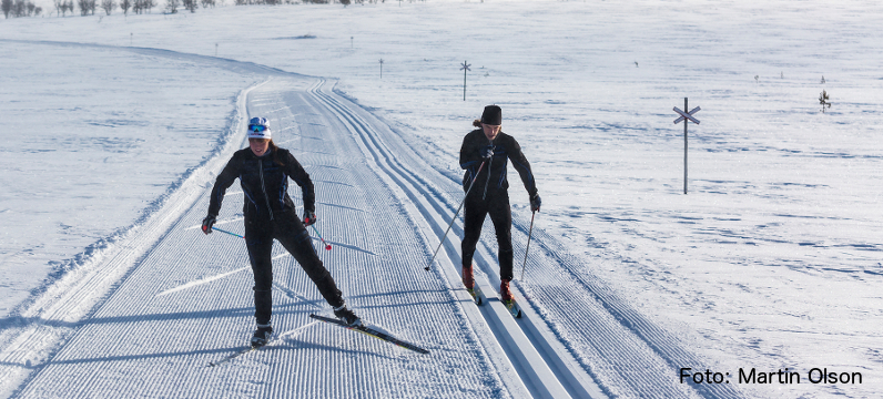
M 0 395 L 539 396 L 507 362 L 517 356 L 499 337 L 511 326 L 456 289 L 456 250 L 434 274 L 420 267 L 460 200 L 461 136 L 497 103 L 544 197 L 516 284 L 531 316 L 515 328 L 570 369 L 568 380 L 552 367 L 564 385 L 873 397 L 882 11 L 430 1 L 0 21 Z M 686 96 L 702 108 L 688 195 L 683 127 L 671 123 Z M 196 367 L 251 328 L 242 248 L 193 229 L 245 114 L 285 126 L 282 145 L 322 182 L 321 228 L 338 248 L 323 256 L 351 301 L 430 360 L 309 324 L 324 304 L 283 256 L 276 324 L 291 336 L 220 371 Z M 530 219 L 519 187 L 516 259 Z M 233 196 L 224 208 L 235 231 Z M 166 341 L 175 331 L 193 335 Z M 344 378 L 315 371 L 335 367 Z M 680 383 L 682 367 L 731 383 Z M 739 383 L 740 368 L 788 368 L 801 383 Z M 863 381 L 815 385 L 813 368 Z

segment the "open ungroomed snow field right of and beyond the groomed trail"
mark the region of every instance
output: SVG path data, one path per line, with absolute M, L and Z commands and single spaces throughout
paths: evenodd
M 592 328 L 619 331 L 646 350 L 598 355 L 613 344 L 580 332 L 586 326 L 574 321 L 571 309 L 548 299 L 530 304 L 605 392 L 650 395 L 643 381 L 652 377 L 666 379 L 660 392 L 679 392 L 687 389 L 674 382 L 679 367 L 829 367 L 861 370 L 866 382 L 740 389 L 750 397 L 873 397 L 881 361 L 874 321 L 881 309 L 876 237 L 883 233 L 875 140 L 883 100 L 880 11 L 863 1 L 427 2 L 221 8 L 101 23 L 10 20 L 0 30 L 3 38 L 123 47 L 134 32 L 134 45 L 190 54 L 200 60 L 193 65 L 211 62 L 220 42 L 219 57 L 244 61 L 238 65 L 341 78 L 338 91 L 387 122 L 453 183 L 468 122 L 484 104 L 501 104 L 506 131 L 526 147 L 545 201 L 535 234 L 549 239 L 532 242 L 531 253 L 542 248 L 540 259 L 554 259 L 529 262 L 519 289 L 534 298 L 542 295 L 539 284 L 555 293 L 562 290 L 556 283 L 566 282 L 571 289 L 561 295 L 609 311 L 591 314 L 601 320 Z M 488 16 L 506 28 L 484 23 Z M 261 29 L 240 28 L 254 21 Z M 304 33 L 316 39 L 292 39 Z M 465 102 L 456 71 L 464 60 L 473 63 Z M 822 89 L 834 102 L 824 115 L 815 101 Z M 671 124 L 670 111 L 684 96 L 691 108 L 702 106 L 702 124 L 690 126 L 687 196 L 680 194 L 682 127 Z M 447 193 L 456 206 L 461 194 L 453 183 L 430 190 Z M 525 233 L 529 213 L 519 188 L 515 183 L 511 190 L 515 226 Z M 336 234 L 337 227 L 324 228 Z M 113 229 L 104 232 L 97 237 Z M 486 266 L 494 264 L 493 234 L 483 237 L 488 247 L 479 266 L 493 280 L 494 268 Z M 518 264 L 524 239 L 514 239 Z M 429 250 L 437 244 L 426 242 Z M 337 236 L 335 243 L 352 242 Z M 91 254 L 98 258 L 100 250 Z M 575 262 L 561 260 L 570 255 Z M 28 356 L 39 358 L 28 354 L 13 364 Z M 662 375 L 623 368 L 631 361 L 654 365 Z M 717 395 L 708 389 L 697 395 Z

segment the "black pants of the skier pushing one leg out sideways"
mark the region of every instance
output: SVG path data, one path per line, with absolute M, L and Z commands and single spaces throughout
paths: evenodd
M 294 212 L 278 212 L 274 218 L 245 216 L 245 243 L 254 272 L 254 317 L 258 325 L 270 324 L 273 307 L 273 239 L 277 239 L 306 272 L 319 294 L 333 307 L 344 305 L 344 298 L 331 273 L 316 255 L 309 234 Z

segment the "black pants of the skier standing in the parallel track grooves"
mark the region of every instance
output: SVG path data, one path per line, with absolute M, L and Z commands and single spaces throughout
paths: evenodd
M 480 187 L 479 187 L 480 188 Z M 494 223 L 494 231 L 497 234 L 497 245 L 499 252 L 497 257 L 500 262 L 500 278 L 512 279 L 512 211 L 509 207 L 509 192 L 505 188 L 488 190 L 487 196 L 483 200 L 483 192 L 470 192 L 466 197 L 463 209 L 463 266 L 473 264 L 473 255 L 478 238 L 481 235 L 481 226 L 485 224 L 485 216 L 490 215 Z

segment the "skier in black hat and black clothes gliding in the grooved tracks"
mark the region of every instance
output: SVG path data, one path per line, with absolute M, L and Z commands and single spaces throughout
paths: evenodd
M 463 284 L 468 289 L 475 287 L 473 255 L 485 216 L 490 215 L 499 245 L 500 299 L 510 301 L 512 300 L 509 290 L 509 282 L 512 279 L 512 213 L 509 207 L 509 182 L 506 180 L 508 161 L 512 162 L 512 166 L 521 176 L 521 182 L 530 196 L 530 211 L 539 211 L 541 202 L 530 163 L 527 162 L 515 137 L 503 133 L 501 121 L 503 111 L 499 106 L 485 106 L 481 120 L 473 122 L 473 125 L 479 129 L 469 132 L 460 147 L 460 167 L 466 170 L 463 176 L 463 190 L 468 193 L 464 207 Z M 477 178 L 476 173 L 478 173 Z M 469 191 L 473 181 L 476 187 Z

